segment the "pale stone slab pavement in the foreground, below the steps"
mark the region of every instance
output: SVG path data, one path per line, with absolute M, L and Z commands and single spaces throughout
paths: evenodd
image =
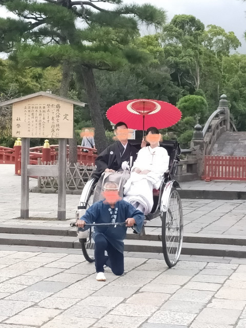
M 246 260 L 126 254 L 125 273 L 79 250 L 0 245 L 0 328 L 245 328 Z

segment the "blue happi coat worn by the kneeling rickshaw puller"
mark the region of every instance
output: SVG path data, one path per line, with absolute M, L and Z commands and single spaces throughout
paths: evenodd
M 110 211 L 111 213 L 113 211 L 113 217 Z M 144 213 L 136 210 L 132 204 L 125 200 L 117 201 L 114 209 L 111 209 L 109 204 L 105 204 L 104 200 L 97 201 L 80 217 L 80 220 L 84 220 L 86 223 L 110 223 L 125 222 L 126 219 L 130 217 L 133 217 L 136 222 L 133 228 L 137 233 L 140 233 L 142 225 L 144 224 Z M 84 229 L 79 228 L 78 230 L 85 231 L 87 229 L 89 229 L 89 227 L 85 227 Z M 98 234 L 103 234 L 120 253 L 124 252 L 123 240 L 126 238 L 127 234 L 126 226 L 94 227 L 93 238 Z

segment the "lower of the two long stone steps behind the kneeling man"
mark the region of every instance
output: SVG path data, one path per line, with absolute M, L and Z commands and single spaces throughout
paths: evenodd
M 35 247 L 80 248 L 76 237 L 0 234 L 0 244 L 29 245 Z M 161 241 L 156 240 L 125 240 L 125 250 L 128 252 L 162 253 Z M 245 245 L 206 244 L 184 242 L 181 254 L 201 256 L 228 256 L 246 258 Z

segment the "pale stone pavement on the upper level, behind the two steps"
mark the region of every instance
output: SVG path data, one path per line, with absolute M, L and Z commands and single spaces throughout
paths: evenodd
M 37 180 L 30 178 L 30 187 L 35 187 Z M 181 183 L 182 188 L 213 185 L 214 189 L 230 189 L 231 186 L 244 188 L 241 182 L 204 182 L 191 181 Z M 198 188 L 197 187 L 197 188 Z M 210 187 L 212 188 L 212 187 Z M 24 226 L 69 227 L 68 221 L 50 220 L 23 220 L 16 219 L 20 215 L 20 176 L 14 175 L 13 165 L 0 165 L 0 229 L 2 224 Z M 57 216 L 56 194 L 29 194 L 29 214 L 31 217 L 54 218 Z M 67 219 L 74 220 L 79 195 L 67 195 Z M 246 229 L 246 200 L 214 200 L 214 199 L 182 199 L 185 234 L 244 236 Z M 160 219 L 151 221 L 151 224 L 160 226 Z M 148 228 L 148 231 L 157 231 L 159 228 Z

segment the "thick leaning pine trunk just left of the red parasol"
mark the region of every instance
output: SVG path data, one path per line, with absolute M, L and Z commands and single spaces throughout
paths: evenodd
M 78 78 L 83 77 L 84 85 L 88 97 L 91 120 L 95 128 L 95 144 L 99 154 L 107 147 L 103 115 L 101 114 L 96 84 L 91 68 L 80 66 L 77 68 Z

